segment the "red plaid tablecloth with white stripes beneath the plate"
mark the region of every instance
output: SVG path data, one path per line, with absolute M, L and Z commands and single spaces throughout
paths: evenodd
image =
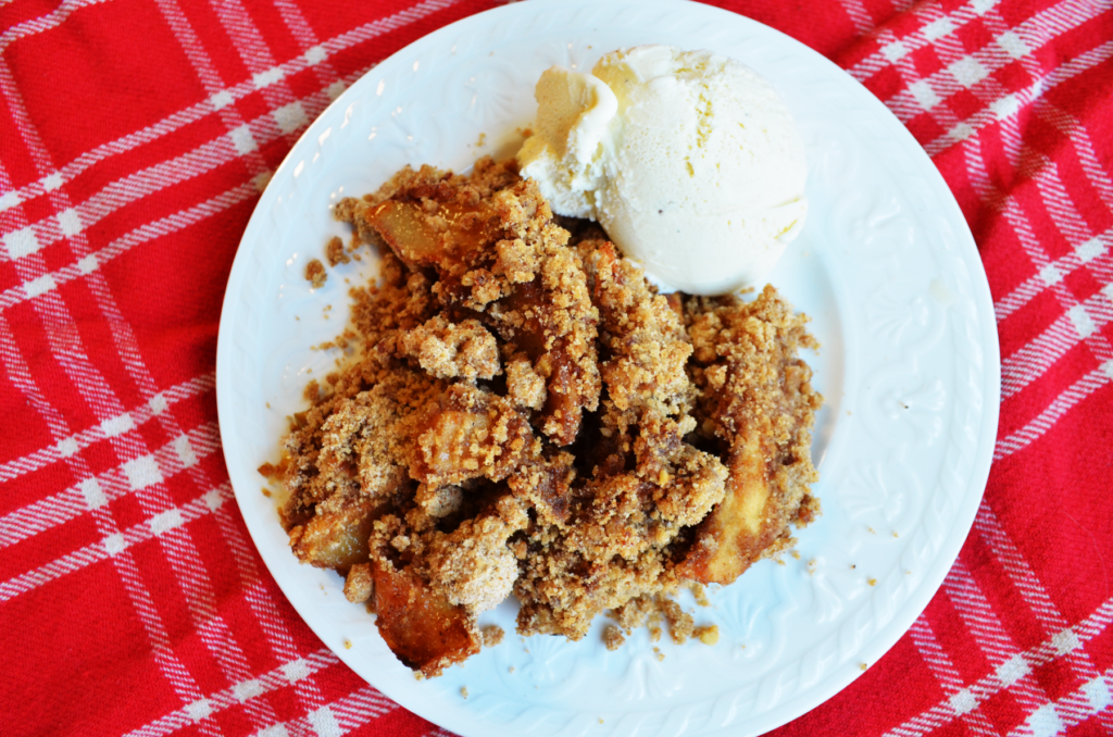
M 342 665 L 220 453 L 225 283 L 344 88 L 481 0 L 0 0 L 0 734 L 446 734 Z M 879 97 L 962 205 L 1002 406 L 912 630 L 784 735 L 1113 734 L 1113 11 L 717 3 Z

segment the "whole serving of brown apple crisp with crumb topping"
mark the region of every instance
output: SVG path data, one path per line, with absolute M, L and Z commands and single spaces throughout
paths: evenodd
M 264 470 L 295 554 L 344 574 L 407 666 L 477 652 L 476 616 L 510 593 L 522 635 L 580 639 L 608 610 L 628 629 L 660 600 L 687 638 L 663 597 L 729 583 L 818 513 L 815 342 L 772 287 L 660 295 L 513 163 L 406 168 L 335 215 L 382 278 L 352 291 L 332 345 L 354 360 Z

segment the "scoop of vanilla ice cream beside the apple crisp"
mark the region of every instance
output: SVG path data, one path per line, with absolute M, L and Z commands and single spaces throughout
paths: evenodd
M 749 67 L 709 51 L 612 51 L 591 75 L 553 67 L 518 155 L 553 210 L 598 220 L 666 285 L 759 284 L 808 210 L 804 144 Z

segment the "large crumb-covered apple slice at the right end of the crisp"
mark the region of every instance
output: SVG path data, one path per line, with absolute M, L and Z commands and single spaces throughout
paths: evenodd
M 726 445 L 730 475 L 723 501 L 697 528 L 679 572 L 726 584 L 791 544 L 789 525 L 818 513 L 808 492 L 817 479 L 809 446 L 823 397 L 796 355 L 801 345 L 816 346 L 806 318 L 772 287 L 749 304 L 692 306 L 688 332 L 702 390 L 697 417 L 705 436 L 713 433 Z

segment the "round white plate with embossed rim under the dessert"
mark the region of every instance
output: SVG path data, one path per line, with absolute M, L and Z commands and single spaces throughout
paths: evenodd
M 691 605 L 698 623 L 718 623 L 713 647 L 662 641 L 659 660 L 640 631 L 609 652 L 602 621 L 578 643 L 523 640 L 508 603 L 483 619 L 508 631 L 502 646 L 420 682 L 364 609 L 344 600 L 339 577 L 296 562 L 260 493 L 255 469 L 277 460 L 284 417 L 304 405 L 311 370 L 322 376 L 333 365 L 334 355 L 309 346 L 343 326 L 345 277 L 374 268 L 334 269 L 313 291 L 305 264 L 345 235 L 328 210 L 338 197 L 373 190 L 407 163 L 466 168 L 529 124 L 543 69 L 590 69 L 608 50 L 649 42 L 740 59 L 799 122 L 811 210 L 770 281 L 811 315 L 824 344 L 809 356 L 827 397 L 814 446 L 824 515 L 798 535 L 798 559 L 764 561 L 712 591 L 710 608 Z M 985 487 L 998 392 L 977 249 L 907 130 L 788 37 L 664 0 L 512 4 L 368 72 L 311 126 L 256 207 L 228 283 L 217 362 L 228 472 L 278 586 L 353 670 L 464 735 L 752 735 L 820 704 L 896 642 L 946 576 Z

